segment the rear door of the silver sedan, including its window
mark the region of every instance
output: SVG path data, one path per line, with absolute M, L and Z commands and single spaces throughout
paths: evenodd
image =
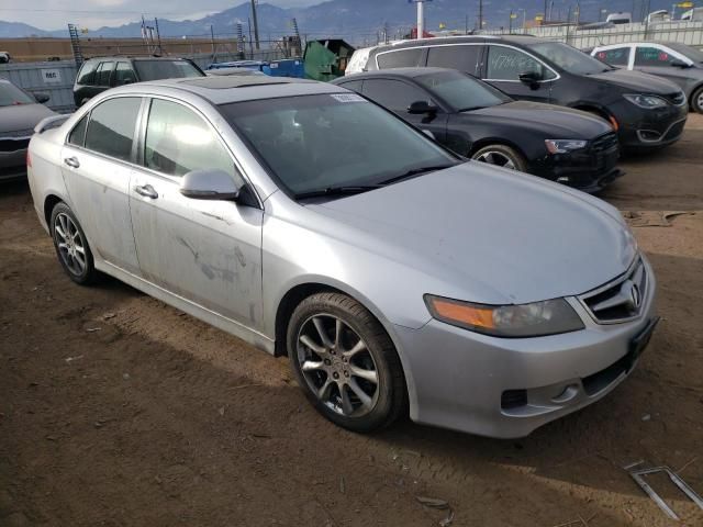
M 142 99 L 115 97 L 79 121 L 62 149 L 64 181 L 94 253 L 138 274 L 130 179 Z

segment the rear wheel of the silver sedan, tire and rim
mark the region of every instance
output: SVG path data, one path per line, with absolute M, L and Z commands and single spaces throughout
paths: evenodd
M 56 256 L 66 274 L 80 285 L 94 283 L 98 271 L 86 233 L 66 203 L 54 206 L 49 228 Z

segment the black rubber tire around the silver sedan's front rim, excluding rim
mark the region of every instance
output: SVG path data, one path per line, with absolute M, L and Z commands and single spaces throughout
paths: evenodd
M 358 316 L 359 311 L 364 311 L 364 316 Z M 356 312 L 356 313 L 355 313 Z M 379 377 L 379 393 L 376 405 L 371 412 L 360 417 L 347 417 L 337 414 L 324 405 L 311 390 L 305 380 L 300 363 L 298 361 L 298 334 L 301 326 L 314 315 L 333 315 L 342 318 L 367 345 L 376 363 Z M 399 383 L 394 380 L 399 368 L 399 360 L 388 335 L 382 330 L 381 325 L 360 304 L 343 294 L 321 293 L 305 299 L 293 312 L 288 324 L 286 345 L 291 362 L 291 369 L 295 375 L 298 384 L 301 386 L 312 405 L 327 419 L 338 426 L 354 431 L 371 431 L 390 424 L 399 413 Z M 392 354 L 392 355 L 391 355 Z M 389 358 L 391 360 L 389 360 Z

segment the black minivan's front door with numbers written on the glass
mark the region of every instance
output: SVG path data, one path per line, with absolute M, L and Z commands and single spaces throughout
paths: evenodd
M 554 82 L 559 76 L 533 55 L 516 47 L 490 44 L 482 78 L 515 99 L 549 102 Z M 537 82 L 525 83 L 522 74 L 534 74 Z

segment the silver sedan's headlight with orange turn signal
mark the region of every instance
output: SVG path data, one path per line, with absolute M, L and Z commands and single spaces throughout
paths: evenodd
M 494 337 L 540 337 L 583 329 L 563 299 L 521 305 L 486 305 L 425 294 L 434 318 Z

